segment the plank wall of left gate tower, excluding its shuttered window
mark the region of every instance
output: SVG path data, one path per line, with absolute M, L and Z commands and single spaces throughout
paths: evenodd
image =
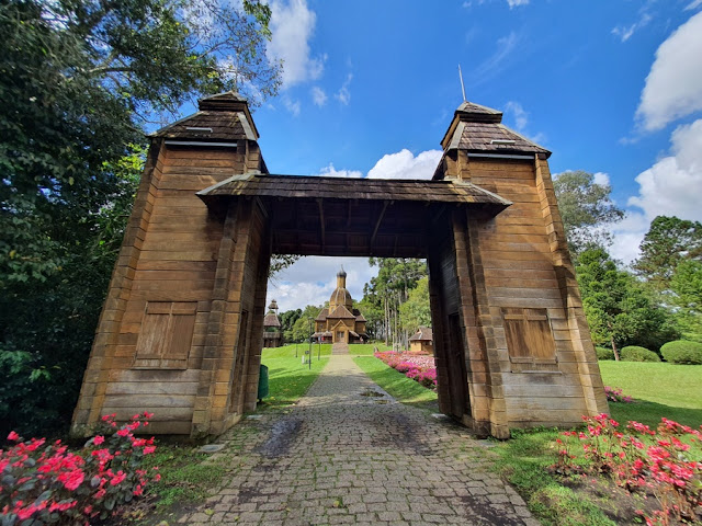
M 195 192 L 242 173 L 246 149 L 244 142 L 238 148 L 185 149 L 167 147 L 160 141 L 151 147 L 150 156 L 155 158 L 143 175 L 131 230 L 125 236 L 98 328 L 75 425 L 92 424 L 101 414 L 109 413 L 128 420 L 146 410 L 155 414 L 154 433 L 191 433 L 223 233 L 223 221 L 208 213 Z M 128 284 L 123 274 L 131 277 Z M 148 301 L 196 304 L 186 369 L 134 368 Z M 114 305 L 123 309 L 120 317 L 113 313 Z M 100 356 L 101 350 L 109 359 L 99 363 L 93 358 Z M 91 396 L 89 380 L 94 375 L 100 381 Z M 89 414 L 84 412 L 87 407 Z

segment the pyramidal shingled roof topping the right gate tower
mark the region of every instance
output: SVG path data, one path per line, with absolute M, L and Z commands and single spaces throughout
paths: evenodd
M 473 102 L 464 102 L 455 111 L 441 146 L 444 151 L 460 149 L 468 155 L 551 156 L 551 151 L 505 126 L 502 112 Z

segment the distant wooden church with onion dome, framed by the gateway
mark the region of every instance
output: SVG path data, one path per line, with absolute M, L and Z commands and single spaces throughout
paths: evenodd
M 351 293 L 347 289 L 347 273 L 337 273 L 337 288 L 331 293 L 329 307 L 319 311 L 315 319 L 314 339 L 322 343 L 363 343 L 366 320 L 359 309 L 353 308 Z

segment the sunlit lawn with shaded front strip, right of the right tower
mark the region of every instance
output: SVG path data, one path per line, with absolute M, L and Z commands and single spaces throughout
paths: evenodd
M 612 418 L 652 426 L 665 416 L 681 424 L 702 424 L 702 365 L 601 361 L 605 386 L 619 387 L 634 403 L 610 403 Z

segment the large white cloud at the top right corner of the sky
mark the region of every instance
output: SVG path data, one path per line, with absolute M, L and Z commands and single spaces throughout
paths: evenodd
M 702 13 L 678 27 L 656 52 L 636 117 L 646 130 L 702 110 Z

